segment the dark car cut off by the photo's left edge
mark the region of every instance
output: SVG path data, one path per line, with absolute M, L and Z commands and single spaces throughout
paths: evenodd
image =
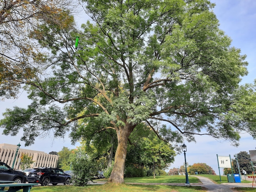
M 0 180 L 26 183 L 27 175 L 24 172 L 13 170 L 4 162 L 0 162 Z

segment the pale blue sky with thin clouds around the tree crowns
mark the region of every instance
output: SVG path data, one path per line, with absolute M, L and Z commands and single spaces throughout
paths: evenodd
M 256 79 L 256 0 L 211 0 L 215 3 L 214 13 L 219 19 L 220 28 L 225 31 L 225 33 L 233 39 L 232 46 L 241 49 L 242 54 L 247 55 L 246 61 L 248 61 L 248 71 L 249 74 L 242 78 L 242 84 L 253 83 Z M 80 21 L 78 23 L 85 22 L 85 19 L 80 15 Z M 18 99 L 6 99 L 5 101 L 0 101 L 0 118 L 1 114 L 5 112 L 5 108 L 12 108 L 12 106 L 24 107 L 28 105 L 29 101 L 26 98 L 26 93 L 21 93 Z M 2 130 L 0 130 L 2 131 Z M 20 137 L 22 133 L 18 136 L 0 136 L 0 143 L 18 144 L 20 142 Z M 233 147 L 231 143 L 215 140 L 209 136 L 197 136 L 196 143 L 188 143 L 186 158 L 189 165 L 193 163 L 207 163 L 210 165 L 217 174 L 218 162 L 217 154 L 219 156 L 229 156 L 234 157 L 234 154 L 240 151 L 255 150 L 256 141 L 248 133 L 241 134 L 240 146 Z M 38 138 L 35 144 L 29 147 L 24 147 L 24 142 L 20 142 L 22 145 L 20 148 L 26 148 L 31 150 L 45 151 L 49 153 L 50 151 L 60 151 L 63 146 L 68 148 L 75 148 L 71 145 L 68 136 L 63 139 L 52 139 L 52 135 L 46 136 L 46 138 Z M 79 143 L 76 144 L 76 146 Z M 180 167 L 184 162 L 184 154 L 179 154 L 175 158 L 175 162 L 170 166 Z M 222 174 L 222 168 L 221 168 Z

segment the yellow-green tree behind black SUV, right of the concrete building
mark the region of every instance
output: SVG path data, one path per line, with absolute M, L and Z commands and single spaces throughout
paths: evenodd
M 70 169 L 71 161 L 69 160 L 69 155 L 72 153 L 68 147 L 63 147 L 61 151 L 58 152 L 59 160 L 57 167 L 66 171 Z

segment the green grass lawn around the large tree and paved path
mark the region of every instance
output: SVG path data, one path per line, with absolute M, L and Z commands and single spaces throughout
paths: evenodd
M 210 178 L 216 184 L 227 182 L 227 176 L 221 176 L 221 182 L 219 176 L 214 175 L 198 175 Z M 95 181 L 107 181 L 106 179 L 100 179 Z M 185 183 L 185 176 L 156 176 L 153 177 L 135 177 L 125 178 L 126 183 Z M 196 177 L 189 176 L 190 183 L 199 183 L 200 180 Z M 243 183 L 250 183 L 251 181 L 242 181 Z M 183 187 L 183 186 L 166 186 L 166 185 L 88 185 L 86 187 L 76 187 L 72 185 L 57 185 L 47 187 L 33 187 L 31 192 L 206 192 L 204 187 Z M 235 188 L 236 192 L 256 191 L 256 188 Z M 20 190 L 22 192 L 22 190 Z

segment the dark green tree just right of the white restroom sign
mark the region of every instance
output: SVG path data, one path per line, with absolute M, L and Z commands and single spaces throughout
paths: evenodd
M 252 173 L 253 169 L 252 169 L 251 157 L 246 151 L 240 151 L 240 153 L 237 154 L 237 161 L 238 161 L 241 174 L 243 169 L 247 172 L 247 174 Z M 233 165 L 233 172 L 238 173 L 236 158 L 232 159 L 232 165 Z

